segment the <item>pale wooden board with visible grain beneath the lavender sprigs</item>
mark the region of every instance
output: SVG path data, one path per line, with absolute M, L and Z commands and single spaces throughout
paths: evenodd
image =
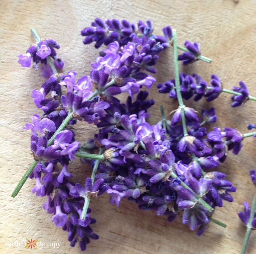
M 22 130 L 30 116 L 39 113 L 30 97 L 31 89 L 41 87 L 44 78 L 32 68 L 22 68 L 17 55 L 25 53 L 30 43 L 33 26 L 43 38 L 49 36 L 61 45 L 58 54 L 65 62 L 64 72 L 74 70 L 78 77 L 88 74 L 90 63 L 97 56 L 93 45 L 83 45 L 80 30 L 89 26 L 95 17 L 127 19 L 130 22 L 151 19 L 154 33 L 162 34 L 166 25 L 176 28 L 178 43 L 185 39 L 199 42 L 201 51 L 212 58 L 212 63 L 196 62 L 182 67 L 180 71 L 197 73 L 204 80 L 210 74 L 217 74 L 224 88 L 231 89 L 243 80 L 250 94 L 256 96 L 256 2 L 254 0 L 140 0 L 140 1 L 83 1 L 83 0 L 1 0 L 0 1 L 0 253 L 28 253 L 32 250 L 8 243 L 20 242 L 24 238 L 39 239 L 41 242 L 59 242 L 59 248 L 50 246 L 35 250 L 40 253 L 82 253 L 78 246 L 69 246 L 67 232 L 55 227 L 51 216 L 42 208 L 45 197 L 31 193 L 34 180 L 28 180 L 15 199 L 11 193 L 31 162 L 30 131 Z M 157 82 L 173 78 L 172 51 L 161 53 L 157 64 Z M 159 106 L 165 112 L 177 108 L 177 102 L 168 95 L 159 95 L 156 87 L 150 91 L 150 99 L 156 103 L 150 109 L 150 123 L 160 119 Z M 196 111 L 203 108 L 217 108 L 219 127 L 238 128 L 246 132 L 248 123 L 256 123 L 256 103 L 248 101 L 242 107 L 231 108 L 230 95 L 221 94 L 211 103 L 202 99 L 192 100 L 186 105 Z M 213 125 L 207 126 L 212 128 Z M 76 126 L 78 141 L 92 136 L 96 128 L 92 124 L 79 123 Z M 168 223 L 164 216 L 154 211 L 139 211 L 136 204 L 123 200 L 119 207 L 109 204 L 108 196 L 102 195 L 91 202 L 92 216 L 97 219 L 93 225 L 99 240 L 92 240 L 87 246 L 89 254 L 179 254 L 179 253 L 239 253 L 245 234 L 237 211 L 242 202 L 252 202 L 255 187 L 251 184 L 248 170 L 255 167 L 255 139 L 246 139 L 237 156 L 229 154 L 219 171 L 227 174 L 237 188 L 233 203 L 224 202 L 217 208 L 214 218 L 227 224 L 221 228 L 213 223 L 200 237 L 189 230 L 178 218 Z M 79 159 L 71 163 L 74 181 L 84 182 L 91 169 L 81 166 Z M 256 233 L 252 232 L 247 253 L 256 253 Z

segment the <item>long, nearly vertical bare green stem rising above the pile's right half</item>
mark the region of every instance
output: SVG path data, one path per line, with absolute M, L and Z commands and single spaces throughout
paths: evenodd
M 182 100 L 181 91 L 180 91 L 180 76 L 179 76 L 179 69 L 178 69 L 178 53 L 177 53 L 177 38 L 176 38 L 176 30 L 173 29 L 173 62 L 174 62 L 174 77 L 175 77 L 175 90 L 177 94 L 177 99 L 179 103 L 179 108 L 181 108 L 181 121 L 182 121 L 182 128 L 184 132 L 184 136 L 188 135 L 187 127 L 186 127 L 186 120 L 185 120 L 185 112 L 184 108 L 185 105 Z

